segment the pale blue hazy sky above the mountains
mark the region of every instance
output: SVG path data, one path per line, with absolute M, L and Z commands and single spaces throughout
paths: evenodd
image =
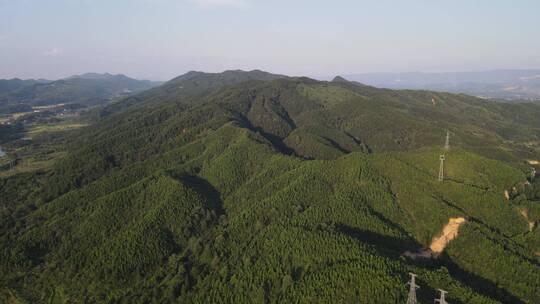
M 540 68 L 537 0 L 0 0 L 0 78 Z

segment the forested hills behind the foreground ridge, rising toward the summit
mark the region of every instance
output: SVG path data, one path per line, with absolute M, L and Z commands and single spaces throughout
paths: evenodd
M 203 77 L 204 73 L 194 75 Z M 191 79 L 194 75 L 185 77 Z M 253 76 L 248 73 L 244 77 Z M 174 83 L 167 85 L 183 87 Z M 110 150 L 115 161 L 139 158 L 132 154 L 163 149 L 165 141 L 184 140 L 184 133 L 193 134 L 200 123 L 220 117 L 260 132 L 283 153 L 305 158 L 335 159 L 353 151 L 442 145 L 447 130 L 453 145 L 489 158 L 518 161 L 538 157 L 529 146 L 540 138 L 540 125 L 531 114 L 540 113 L 540 107 L 534 105 L 525 111 L 507 108 L 520 108 L 518 105 L 506 106 L 465 95 L 390 91 L 306 78 L 253 80 L 204 91 L 202 95 L 185 94 L 185 98 L 196 100 L 195 106 L 161 98 L 158 93 L 152 95 L 152 90 L 145 92 L 137 97 L 137 107 L 127 107 L 122 114 L 101 121 L 85 134 L 85 144 L 100 141 L 105 146 L 100 150 Z M 159 148 L 150 149 L 149 144 Z

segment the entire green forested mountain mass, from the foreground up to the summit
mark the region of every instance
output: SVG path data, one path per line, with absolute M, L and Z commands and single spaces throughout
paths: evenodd
M 540 187 L 523 164 L 540 159 L 540 107 L 234 75 L 121 101 L 51 170 L 0 179 L 0 296 L 400 303 L 414 272 L 421 303 L 437 288 L 540 301 Z M 403 257 L 453 217 L 466 223 L 438 259 Z

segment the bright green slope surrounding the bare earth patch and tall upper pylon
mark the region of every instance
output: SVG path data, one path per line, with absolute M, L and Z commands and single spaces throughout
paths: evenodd
M 446 173 L 445 181 L 439 182 L 442 153 Z M 506 189 L 525 181 L 523 173 L 459 148 L 377 155 L 375 163 L 390 179 L 406 215 L 391 219 L 428 246 L 449 218 L 466 218 L 459 236 L 445 251 L 448 258 L 520 298 L 538 301 L 539 265 L 522 240 L 529 233 L 528 223 L 519 207 L 504 197 Z

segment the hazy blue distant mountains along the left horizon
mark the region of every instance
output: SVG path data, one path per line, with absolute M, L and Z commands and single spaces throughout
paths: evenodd
M 56 103 L 102 104 L 115 97 L 150 89 L 159 82 L 125 75 L 87 73 L 60 80 L 0 80 L 0 112 L 21 106 Z

